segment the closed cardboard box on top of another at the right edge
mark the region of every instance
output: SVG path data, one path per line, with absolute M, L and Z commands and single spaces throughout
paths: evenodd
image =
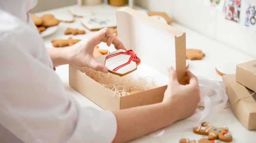
M 256 91 L 256 60 L 236 66 L 236 81 L 245 87 Z

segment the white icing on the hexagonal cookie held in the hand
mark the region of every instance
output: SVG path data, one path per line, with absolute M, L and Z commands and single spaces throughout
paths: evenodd
M 109 55 L 112 55 L 115 53 L 119 53 L 119 52 L 125 52 L 125 50 L 119 49 L 115 52 L 107 54 L 106 56 L 109 56 Z M 105 66 L 108 68 L 109 71 L 113 71 L 113 69 L 115 69 L 116 67 L 128 62 L 130 57 L 131 57 L 130 55 L 125 55 L 125 54 L 120 54 L 117 56 L 110 57 L 105 60 Z M 117 71 L 113 71 L 113 72 L 116 72 L 119 74 L 124 74 L 124 73 L 132 71 L 136 68 L 137 68 L 136 62 L 131 61 L 129 64 L 127 64 L 127 65 L 119 68 Z

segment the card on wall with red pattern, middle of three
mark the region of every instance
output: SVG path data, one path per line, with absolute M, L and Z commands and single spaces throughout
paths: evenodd
M 241 0 L 226 0 L 225 1 L 225 19 L 239 23 L 240 7 L 241 7 Z

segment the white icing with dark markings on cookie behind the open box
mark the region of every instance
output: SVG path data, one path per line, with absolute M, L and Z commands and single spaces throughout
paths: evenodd
M 88 16 L 82 18 L 81 23 L 90 30 L 104 27 L 117 27 L 117 21 L 115 17 Z

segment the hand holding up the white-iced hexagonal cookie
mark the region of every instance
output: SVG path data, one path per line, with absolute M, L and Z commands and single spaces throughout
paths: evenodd
M 89 67 L 96 71 L 108 73 L 107 67 L 96 62 L 93 58 L 94 47 L 101 42 L 107 43 L 108 46 L 110 46 L 112 43 L 117 50 L 126 50 L 123 43 L 118 40 L 108 28 L 103 28 L 95 34 L 92 34 L 71 46 L 70 48 L 67 48 L 68 53 L 71 54 L 70 64 L 77 67 Z

